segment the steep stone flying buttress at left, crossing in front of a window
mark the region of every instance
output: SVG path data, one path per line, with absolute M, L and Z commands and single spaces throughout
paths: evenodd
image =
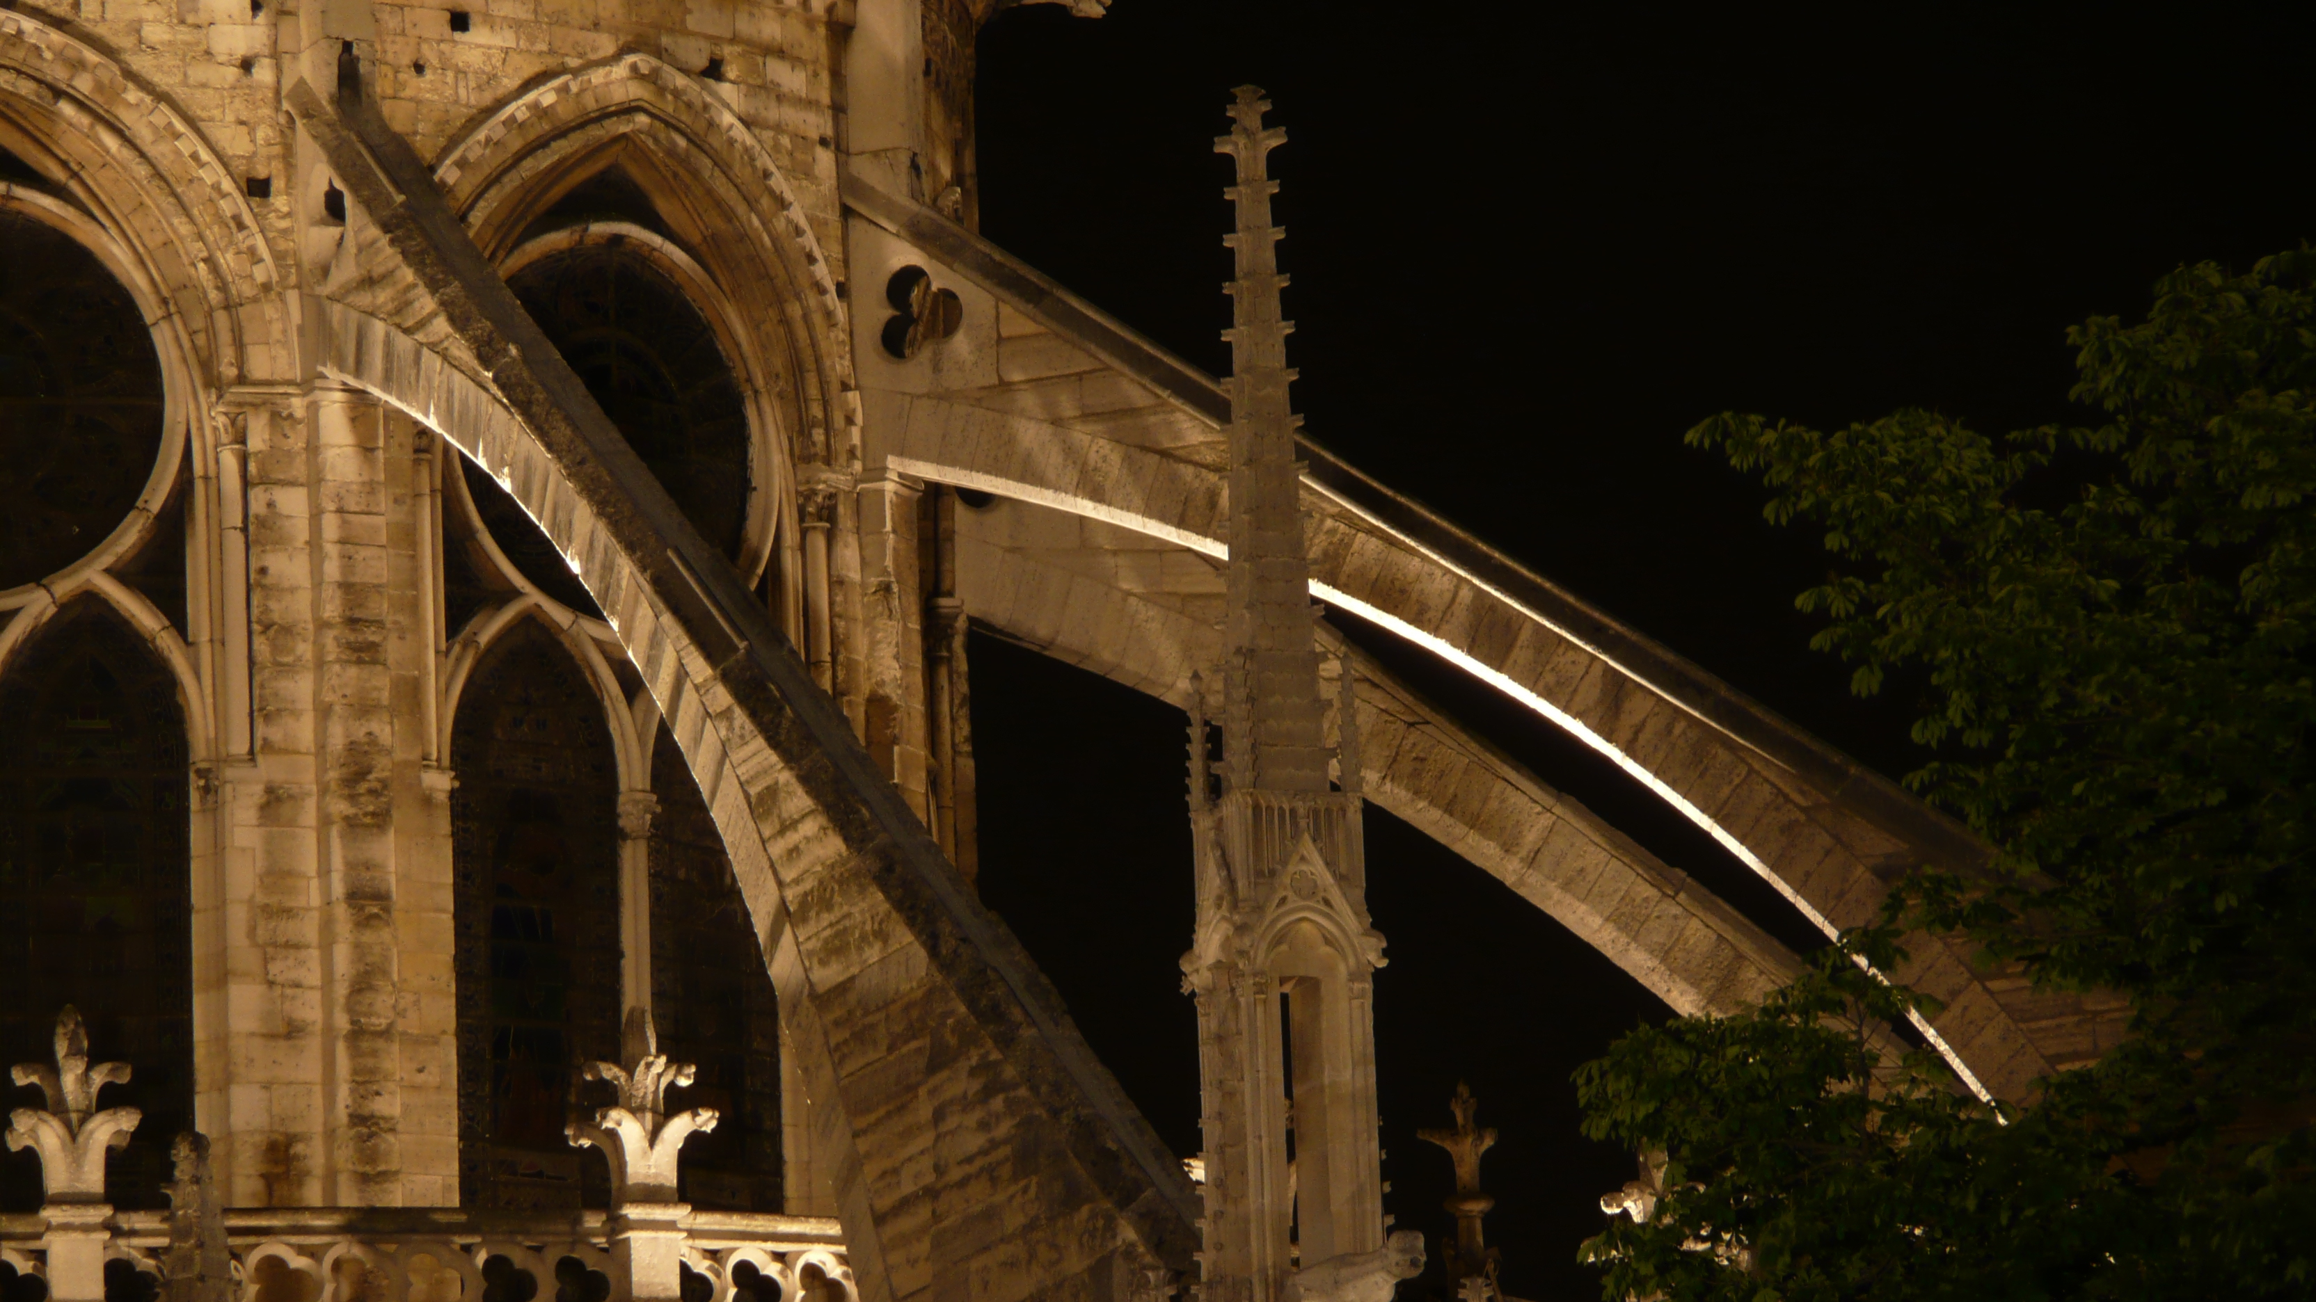
M 658 700 L 797 1012 L 862 1297 L 922 1297 L 975 1270 L 1028 1270 L 1028 1295 L 1188 1272 L 1195 1202 L 1172 1154 L 521 315 L 424 164 L 347 90 L 340 107 L 290 90 L 359 209 L 347 239 L 364 273 L 322 306 L 322 368 L 505 484 Z M 931 1133 L 950 1142 L 929 1156 Z M 998 1207 L 1003 1226 L 952 1232 Z

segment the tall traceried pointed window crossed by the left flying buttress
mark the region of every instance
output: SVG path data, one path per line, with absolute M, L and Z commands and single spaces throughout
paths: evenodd
M 730 313 L 644 190 L 616 164 L 595 171 L 528 225 L 503 269 L 676 507 L 734 563 L 762 568 L 771 524 L 753 514 L 767 510 L 755 408 L 734 366 L 739 345 L 716 327 Z M 463 507 L 459 537 L 442 549 L 445 581 L 470 609 L 456 623 L 482 628 L 496 600 L 535 598 L 558 623 L 560 607 L 581 630 L 609 637 L 593 598 L 512 496 L 472 463 L 461 466 L 454 491 Z M 484 653 L 456 707 L 463 1202 L 602 1205 L 602 1161 L 581 1161 L 563 1124 L 570 1110 L 604 1103 L 600 1087 L 579 1084 L 577 1068 L 621 1052 L 630 961 L 621 952 L 621 857 L 637 855 L 628 890 L 646 887 L 648 899 L 628 904 L 648 908 L 646 999 L 660 1052 L 699 1068 L 672 1105 L 720 1114 L 716 1131 L 686 1144 L 683 1198 L 704 1209 L 778 1212 L 778 1010 L 755 927 L 674 739 L 665 727 L 648 746 L 648 737 L 628 739 L 628 702 L 602 688 L 528 621 Z M 526 734 L 554 741 L 521 741 Z M 648 771 L 621 771 L 646 753 Z M 544 774 L 554 765 L 565 769 Z M 621 792 L 646 785 L 658 797 L 648 841 L 623 850 Z M 503 848 L 533 841 L 554 843 L 533 855 L 558 864 L 551 876 L 563 894 L 554 901 L 526 885 L 544 876 L 526 876 L 519 855 Z M 526 1019 L 510 1010 L 558 1012 Z

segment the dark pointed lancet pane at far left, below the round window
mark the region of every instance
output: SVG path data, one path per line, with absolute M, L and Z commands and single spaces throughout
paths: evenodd
M 97 598 L 0 674 L 0 1068 L 53 1061 L 67 1003 L 97 1061 L 130 1063 L 102 1096 L 144 1110 L 107 1158 L 118 1207 L 167 1207 L 169 1142 L 192 1128 L 185 765 L 176 676 Z M 0 1158 L 0 1212 L 39 1200 L 32 1154 Z

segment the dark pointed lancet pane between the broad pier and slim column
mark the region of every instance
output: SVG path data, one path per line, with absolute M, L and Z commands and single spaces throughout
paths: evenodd
M 579 1066 L 618 1059 L 618 774 L 600 697 L 537 621 L 475 665 L 452 762 L 461 1202 L 602 1207 L 602 1156 L 563 1126 Z

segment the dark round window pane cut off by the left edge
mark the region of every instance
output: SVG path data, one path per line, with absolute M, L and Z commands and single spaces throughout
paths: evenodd
M 137 301 L 65 232 L 0 211 L 0 588 L 104 542 L 160 436 L 160 354 Z

